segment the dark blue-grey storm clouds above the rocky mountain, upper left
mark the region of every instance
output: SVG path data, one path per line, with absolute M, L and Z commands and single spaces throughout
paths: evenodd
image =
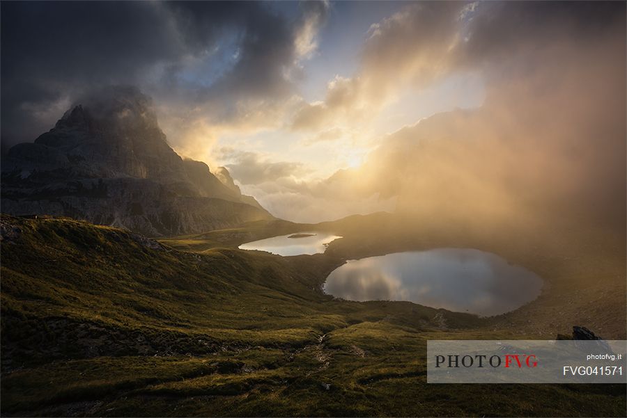
M 3 148 L 49 129 L 93 86 L 134 84 L 160 101 L 222 103 L 214 106 L 221 118 L 238 99 L 281 97 L 291 90 L 285 74 L 308 9 L 288 19 L 261 2 L 3 2 Z M 198 67 L 192 74 L 189 62 Z

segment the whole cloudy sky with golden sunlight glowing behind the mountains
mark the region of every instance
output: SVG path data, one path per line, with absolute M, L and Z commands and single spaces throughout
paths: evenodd
M 514 156 L 540 177 L 569 172 L 554 185 L 564 199 L 578 175 L 615 179 L 624 164 L 610 156 L 601 172 L 596 154 L 624 141 L 624 2 L 30 1 L 0 15 L 3 152 L 91 88 L 131 84 L 153 97 L 176 152 L 225 166 L 272 214 L 301 222 L 440 202 L 445 177 L 520 204 L 503 191 L 530 177 L 502 176 Z M 597 143 L 583 136 L 601 125 Z M 441 166 L 447 141 L 465 150 L 454 174 Z M 564 157 L 572 149 L 592 154 L 589 170 L 568 171 L 582 164 Z M 479 171 L 492 176 L 481 187 L 468 180 Z M 475 200 L 458 188 L 447 201 Z

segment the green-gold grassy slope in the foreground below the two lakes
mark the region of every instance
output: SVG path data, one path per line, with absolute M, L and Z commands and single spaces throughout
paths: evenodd
M 198 254 L 75 220 L 2 221 L 20 229 L 1 245 L 3 415 L 624 416 L 624 385 L 427 385 L 427 339 L 538 332 L 332 300 L 319 286 L 340 242 L 328 255 Z

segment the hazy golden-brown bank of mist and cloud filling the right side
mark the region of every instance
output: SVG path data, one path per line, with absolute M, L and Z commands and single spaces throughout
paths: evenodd
M 397 131 L 341 181 L 419 218 L 624 232 L 624 19 L 578 4 L 486 5 L 456 64 L 489 75 L 486 103 Z

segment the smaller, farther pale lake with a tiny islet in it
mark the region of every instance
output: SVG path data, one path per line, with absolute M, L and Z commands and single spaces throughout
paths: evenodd
M 327 244 L 341 238 L 327 232 L 297 232 L 295 234 L 272 236 L 242 244 L 242 250 L 268 251 L 276 255 L 302 255 L 325 252 Z

